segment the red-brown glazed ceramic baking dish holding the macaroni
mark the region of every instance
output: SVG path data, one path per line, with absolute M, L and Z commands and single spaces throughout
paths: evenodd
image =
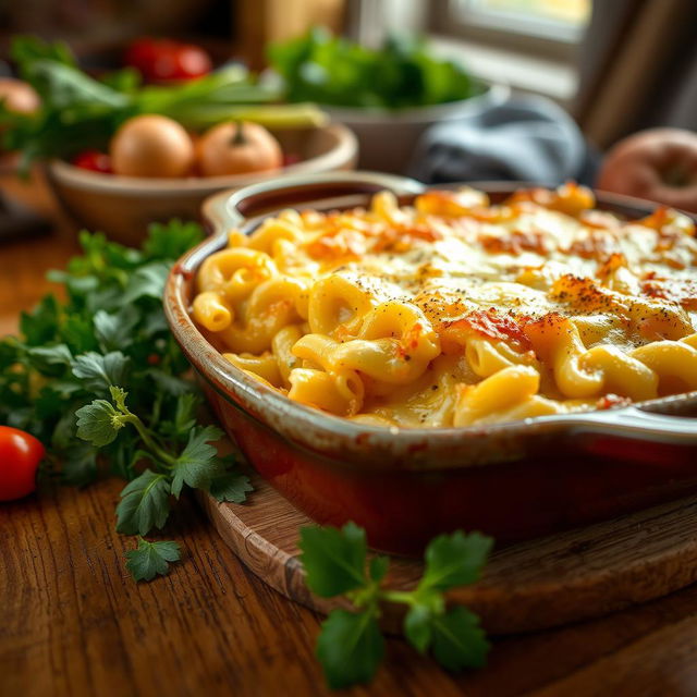
M 516 186 L 479 185 L 493 200 Z M 284 178 L 209 199 L 212 235 L 170 273 L 164 308 L 228 433 L 273 487 L 315 521 L 353 519 L 370 543 L 417 551 L 433 535 L 478 529 L 512 541 L 584 525 L 697 491 L 697 392 L 636 406 L 511 424 L 387 429 L 293 402 L 225 360 L 189 317 L 201 261 L 231 228 L 254 230 L 289 206 L 365 205 L 391 189 L 424 191 L 371 173 Z M 598 193 L 598 207 L 628 218 L 653 206 Z

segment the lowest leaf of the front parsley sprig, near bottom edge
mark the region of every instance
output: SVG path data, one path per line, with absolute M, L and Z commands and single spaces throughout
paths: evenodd
M 367 683 L 384 656 L 384 639 L 375 613 L 333 610 L 322 623 L 317 658 L 333 689 Z

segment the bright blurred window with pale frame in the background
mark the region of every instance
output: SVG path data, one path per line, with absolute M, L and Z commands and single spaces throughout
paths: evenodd
M 486 82 L 573 103 L 576 52 L 592 0 L 355 0 L 347 7 L 352 36 L 368 46 L 389 32 L 428 34 L 442 56 L 462 60 Z

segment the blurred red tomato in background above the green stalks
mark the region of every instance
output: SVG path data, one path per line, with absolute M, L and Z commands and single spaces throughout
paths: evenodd
M 131 44 L 125 62 L 148 81 L 191 80 L 212 69 L 210 56 L 193 44 L 171 39 L 142 38 Z

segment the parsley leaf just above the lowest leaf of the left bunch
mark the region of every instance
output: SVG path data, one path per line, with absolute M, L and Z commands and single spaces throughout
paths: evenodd
M 161 529 L 170 514 L 170 482 L 167 475 L 146 469 L 127 484 L 117 506 L 117 531 L 123 535 L 147 535 Z

